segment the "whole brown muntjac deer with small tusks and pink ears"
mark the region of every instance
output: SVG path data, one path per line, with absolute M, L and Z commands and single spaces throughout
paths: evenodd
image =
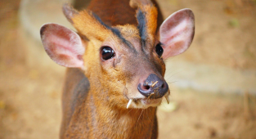
M 192 11 L 163 23 L 150 0 L 92 0 L 88 10 L 63 11 L 77 32 L 53 23 L 40 30 L 47 54 L 68 67 L 61 138 L 157 138 L 156 109 L 170 94 L 164 60 L 191 45 Z

